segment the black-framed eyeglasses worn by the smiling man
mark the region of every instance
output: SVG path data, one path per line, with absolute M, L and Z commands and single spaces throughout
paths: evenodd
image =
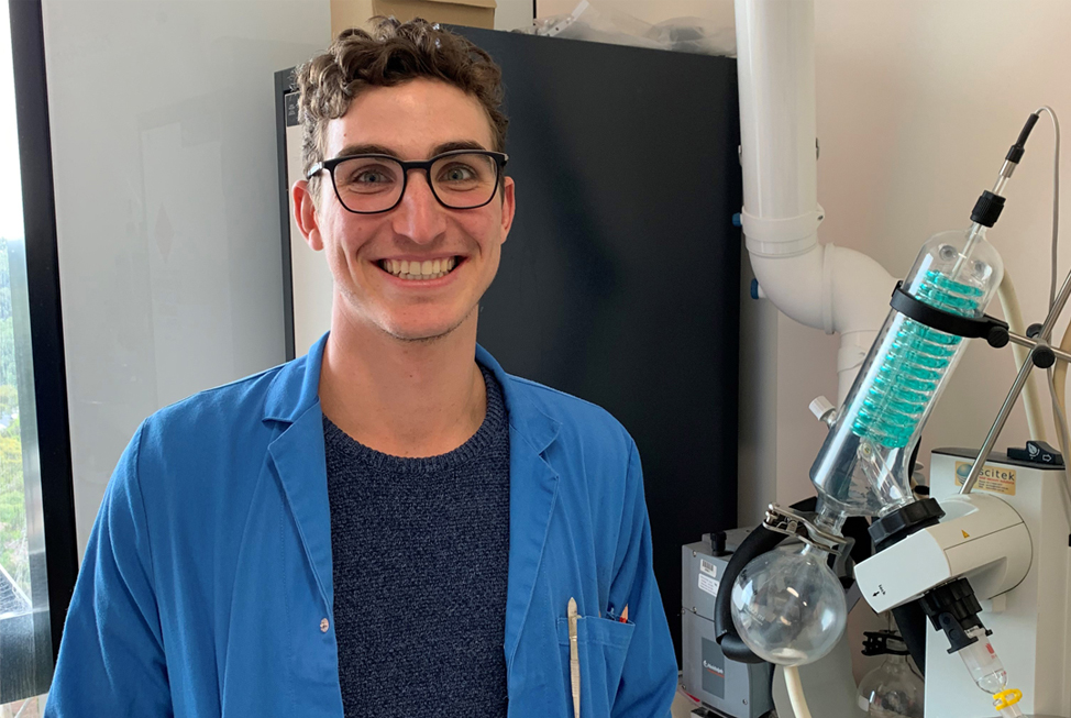
M 448 209 L 476 209 L 495 198 L 509 157 L 488 150 L 453 150 L 431 159 L 405 162 L 390 155 L 349 155 L 318 162 L 306 175 L 327 169 L 342 206 L 357 214 L 388 212 L 401 202 L 409 170 L 422 169 L 431 194 Z

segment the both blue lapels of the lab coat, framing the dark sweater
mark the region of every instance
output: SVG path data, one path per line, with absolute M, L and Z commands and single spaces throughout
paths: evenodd
M 320 596 L 328 615 L 334 610 L 331 555 L 331 506 L 328 498 L 323 450 L 323 419 L 320 412 L 320 365 L 328 334 L 309 353 L 279 369 L 265 400 L 265 421 L 286 422 L 268 448 L 283 491 L 312 564 Z M 546 461 L 561 422 L 534 402 L 537 388 L 517 379 L 482 346 L 476 361 L 495 375 L 503 388 L 509 417 L 509 567 L 506 596 L 505 650 L 508 663 L 520 639 L 532 603 L 543 546 L 557 499 L 559 474 Z

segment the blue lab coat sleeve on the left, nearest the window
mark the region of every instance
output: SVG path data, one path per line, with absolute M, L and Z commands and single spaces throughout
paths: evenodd
M 45 718 L 173 714 L 139 460 L 144 424 L 97 515 L 67 612 Z

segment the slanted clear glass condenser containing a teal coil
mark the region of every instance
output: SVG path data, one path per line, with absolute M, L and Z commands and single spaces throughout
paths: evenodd
M 946 312 L 980 318 L 1004 276 L 980 224 L 934 235 L 903 289 Z M 810 470 L 827 504 L 877 516 L 914 500 L 910 453 L 968 340 L 891 310 Z

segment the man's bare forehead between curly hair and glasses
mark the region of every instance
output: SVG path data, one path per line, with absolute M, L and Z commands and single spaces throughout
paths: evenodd
M 494 148 L 490 120 L 479 101 L 452 85 L 424 79 L 362 90 L 343 117 L 328 122 L 324 140 L 327 157 L 365 146 L 404 159 L 426 158 L 448 144 Z

